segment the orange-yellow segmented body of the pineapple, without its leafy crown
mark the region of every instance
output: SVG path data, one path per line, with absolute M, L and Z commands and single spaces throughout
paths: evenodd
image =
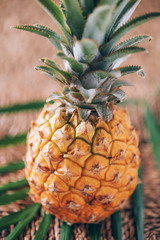
M 25 172 L 30 196 L 68 223 L 99 222 L 121 209 L 138 183 L 140 152 L 128 113 L 80 120 L 60 102 L 32 122 Z

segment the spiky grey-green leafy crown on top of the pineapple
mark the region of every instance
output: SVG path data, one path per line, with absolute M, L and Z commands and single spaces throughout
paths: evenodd
M 47 102 L 60 100 L 69 112 L 78 110 L 83 119 L 91 112 L 103 120 L 111 119 L 112 105 L 126 97 L 121 87 L 131 85 L 120 78 L 131 73 L 144 76 L 140 66 L 119 66 L 130 54 L 145 51 L 137 45 L 151 37 L 119 40 L 136 26 L 160 16 L 154 12 L 129 20 L 140 1 L 62 0 L 58 7 L 52 0 L 37 0 L 62 34 L 37 24 L 15 28 L 48 38 L 64 60 L 65 70 L 47 58 L 41 59 L 45 66 L 36 67 L 63 85 Z

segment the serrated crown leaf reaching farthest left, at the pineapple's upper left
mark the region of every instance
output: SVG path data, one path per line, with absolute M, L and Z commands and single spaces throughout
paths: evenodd
M 37 24 L 34 26 L 18 25 L 18 26 L 15 26 L 14 28 L 25 30 L 25 31 L 32 32 L 32 33 L 41 35 L 43 37 L 46 37 L 51 43 L 55 45 L 56 48 L 60 50 L 62 49 L 60 43 L 65 42 L 65 38 L 63 36 L 42 25 L 37 25 Z

